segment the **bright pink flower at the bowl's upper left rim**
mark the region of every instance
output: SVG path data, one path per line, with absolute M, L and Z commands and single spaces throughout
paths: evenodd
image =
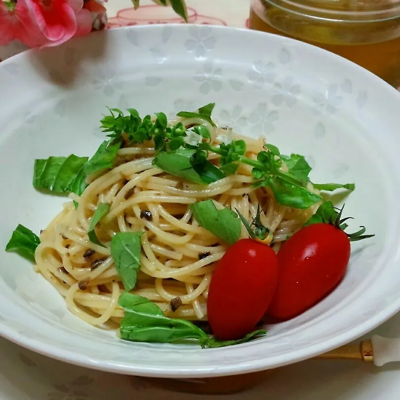
M 29 47 L 55 46 L 86 35 L 92 16 L 83 0 L 0 0 L 0 44 L 14 39 Z

